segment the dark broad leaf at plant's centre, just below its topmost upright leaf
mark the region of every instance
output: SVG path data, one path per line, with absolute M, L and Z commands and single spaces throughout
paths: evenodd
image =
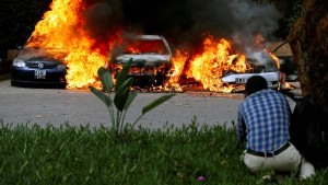
M 132 83 L 133 79 L 129 78 L 116 91 L 114 103 L 117 109 L 122 111 L 125 108 Z

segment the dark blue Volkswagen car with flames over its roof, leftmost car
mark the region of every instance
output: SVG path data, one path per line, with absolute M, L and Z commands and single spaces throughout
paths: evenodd
M 66 88 L 65 54 L 57 49 L 23 47 L 11 65 L 11 85 Z

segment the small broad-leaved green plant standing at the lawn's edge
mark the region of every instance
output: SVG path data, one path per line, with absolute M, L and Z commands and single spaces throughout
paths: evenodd
M 141 115 L 136 119 L 133 124 L 125 123 L 126 113 L 137 97 L 138 92 L 132 92 L 131 85 L 133 83 L 133 79 L 128 77 L 129 70 L 131 68 L 131 60 L 124 65 L 121 72 L 118 74 L 116 83 L 114 84 L 112 73 L 105 68 L 101 67 L 98 69 L 98 78 L 103 84 L 103 91 L 97 90 L 93 86 L 89 86 L 91 92 L 95 94 L 101 101 L 103 101 L 108 108 L 112 128 L 117 131 L 117 134 L 121 134 L 127 128 L 132 129 L 137 122 L 148 112 L 155 108 L 160 104 L 166 102 L 174 93 L 162 95 L 155 101 L 149 103 L 142 108 Z M 112 96 L 113 89 L 115 88 L 114 99 Z

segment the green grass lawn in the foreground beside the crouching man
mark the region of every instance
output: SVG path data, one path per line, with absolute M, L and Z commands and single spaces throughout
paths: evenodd
M 243 146 L 234 130 L 222 126 L 200 127 L 194 120 L 183 128 L 138 128 L 117 136 L 107 127 L 0 123 L 0 184 L 266 184 L 263 174 L 250 174 L 239 160 Z M 305 182 L 286 176 L 278 184 L 325 182 L 327 171 Z

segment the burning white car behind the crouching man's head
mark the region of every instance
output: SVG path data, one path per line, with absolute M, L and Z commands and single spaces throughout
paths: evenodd
M 267 53 L 257 53 L 246 58 L 249 69 L 245 72 L 225 71 L 222 81 L 226 85 L 234 85 L 233 91 L 245 90 L 247 79 L 253 76 L 263 77 L 270 89 L 278 89 L 280 72 L 274 59 Z

